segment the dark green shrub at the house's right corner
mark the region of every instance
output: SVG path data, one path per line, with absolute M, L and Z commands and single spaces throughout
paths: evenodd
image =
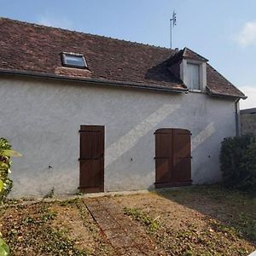
M 220 169 L 224 185 L 241 190 L 252 190 L 256 186 L 256 142 L 255 137 L 225 138 L 220 150 Z

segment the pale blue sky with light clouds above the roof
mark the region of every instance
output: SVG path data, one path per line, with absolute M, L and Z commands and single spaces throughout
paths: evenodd
M 173 47 L 184 46 L 210 64 L 256 107 L 255 0 L 0 0 L 0 16 L 170 47 L 170 18 L 177 13 Z

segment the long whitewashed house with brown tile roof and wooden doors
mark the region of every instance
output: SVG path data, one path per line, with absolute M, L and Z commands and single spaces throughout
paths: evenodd
M 12 196 L 221 179 L 244 94 L 191 49 L 0 20 L 0 131 Z

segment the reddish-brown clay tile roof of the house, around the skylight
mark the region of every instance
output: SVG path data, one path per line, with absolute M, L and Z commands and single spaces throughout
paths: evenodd
M 172 58 L 178 55 L 175 49 L 5 18 L 0 18 L 0 35 L 1 73 L 27 72 L 65 79 L 97 79 L 166 90 L 187 90 L 183 81 L 168 68 Z M 62 52 L 84 55 L 89 69 L 63 67 Z M 189 49 L 183 50 L 184 53 L 188 58 L 203 58 Z M 207 81 L 209 90 L 216 93 L 243 96 L 212 67 L 207 68 Z

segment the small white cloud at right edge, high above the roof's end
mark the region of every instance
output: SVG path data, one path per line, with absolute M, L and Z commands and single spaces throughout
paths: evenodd
M 237 34 L 236 41 L 244 47 L 256 45 L 256 21 L 247 22 Z

